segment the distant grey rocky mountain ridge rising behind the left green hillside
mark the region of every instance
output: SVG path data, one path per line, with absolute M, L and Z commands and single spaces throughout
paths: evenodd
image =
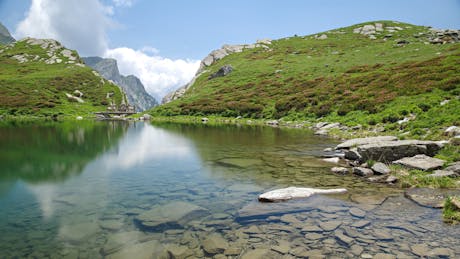
M 158 105 L 155 98 L 149 95 L 139 78 L 129 75 L 120 75 L 117 61 L 111 58 L 85 57 L 86 65 L 98 71 L 105 79 L 112 80 L 119 85 L 126 93 L 130 104 L 136 107 L 137 111 L 145 111 Z

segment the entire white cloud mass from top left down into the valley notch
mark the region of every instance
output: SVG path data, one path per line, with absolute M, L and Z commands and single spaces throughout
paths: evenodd
M 172 60 L 158 56 L 158 49 L 108 47 L 107 31 L 114 28 L 115 8 L 130 7 L 135 0 L 32 0 L 15 37 L 52 38 L 76 49 L 81 56 L 105 56 L 118 61 L 120 72 L 139 77 L 148 93 L 161 100 L 171 90 L 188 83 L 199 66 L 195 60 Z

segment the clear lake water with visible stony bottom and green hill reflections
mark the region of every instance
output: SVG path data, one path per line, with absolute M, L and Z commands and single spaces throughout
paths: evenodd
M 0 144 L 1 258 L 460 255 L 441 211 L 330 173 L 336 143 L 304 130 L 75 122 Z M 287 186 L 349 191 L 257 202 Z

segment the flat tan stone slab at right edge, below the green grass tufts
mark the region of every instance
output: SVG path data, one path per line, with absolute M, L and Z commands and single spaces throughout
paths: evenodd
M 406 198 L 414 201 L 420 206 L 431 208 L 444 207 L 444 200 L 447 196 L 460 195 L 459 189 L 432 189 L 432 188 L 411 188 L 404 192 Z

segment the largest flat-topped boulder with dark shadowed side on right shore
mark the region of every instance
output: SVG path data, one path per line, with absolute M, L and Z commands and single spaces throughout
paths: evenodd
M 383 141 L 358 146 L 362 161 L 392 162 L 419 154 L 434 156 L 444 145 L 441 141 L 400 140 Z

